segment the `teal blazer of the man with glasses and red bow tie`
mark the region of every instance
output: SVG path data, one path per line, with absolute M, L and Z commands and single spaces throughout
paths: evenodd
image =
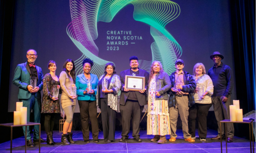
M 43 71 L 42 68 L 36 66 L 38 72 L 38 82 L 37 87 L 40 88 L 38 92 L 36 92 L 36 98 L 41 99 L 41 90 L 43 89 Z M 12 83 L 15 86 L 19 87 L 18 98 L 19 99 L 29 99 L 31 96 L 31 92 L 28 91 L 27 86 L 30 84 L 31 71 L 27 62 L 18 64 L 15 72 Z

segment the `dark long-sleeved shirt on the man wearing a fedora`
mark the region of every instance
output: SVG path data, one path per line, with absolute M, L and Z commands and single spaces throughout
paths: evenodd
M 228 65 L 221 64 L 217 67 L 213 65 L 209 69 L 208 75 L 213 80 L 213 96 L 228 97 L 233 89 L 233 78 L 231 74 L 231 68 Z

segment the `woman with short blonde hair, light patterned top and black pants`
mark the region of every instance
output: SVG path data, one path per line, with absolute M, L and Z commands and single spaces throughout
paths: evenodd
M 206 141 L 207 115 L 212 104 L 213 81 L 206 74 L 203 63 L 196 63 L 193 68 L 193 78 L 196 81 L 194 99 L 196 104 L 189 108 L 188 128 L 191 138 L 195 139 L 196 118 L 198 118 L 198 135 L 201 141 Z

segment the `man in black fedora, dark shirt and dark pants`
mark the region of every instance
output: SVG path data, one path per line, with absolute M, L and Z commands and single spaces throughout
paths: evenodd
M 221 60 L 224 59 L 223 55 L 219 52 L 214 52 L 210 56 L 214 65 L 209 69 L 208 75 L 213 80 L 213 108 L 214 114 L 218 123 L 218 135 L 212 140 L 220 140 L 220 128 L 219 122 L 224 119 L 229 119 L 229 105 L 231 98 L 231 91 L 233 89 L 233 78 L 231 68 L 223 64 Z M 227 123 L 227 142 L 233 142 L 234 137 L 234 125 L 233 123 Z M 224 131 L 224 126 L 221 127 L 221 131 Z M 223 135 L 222 135 L 223 136 Z

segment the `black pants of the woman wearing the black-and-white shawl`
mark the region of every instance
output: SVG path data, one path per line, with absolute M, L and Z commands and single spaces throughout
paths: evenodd
M 108 98 L 100 98 L 104 140 L 115 140 L 116 111 L 108 106 Z

